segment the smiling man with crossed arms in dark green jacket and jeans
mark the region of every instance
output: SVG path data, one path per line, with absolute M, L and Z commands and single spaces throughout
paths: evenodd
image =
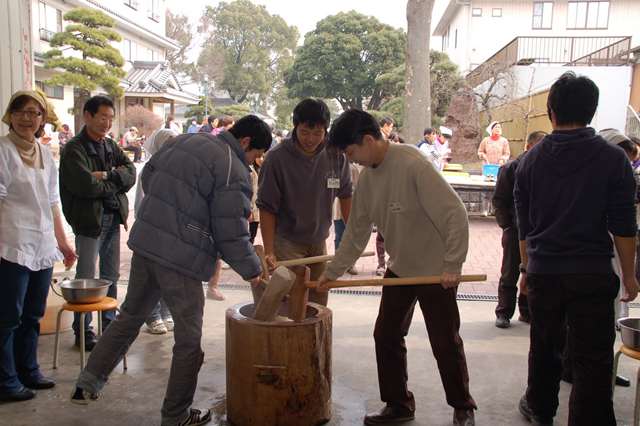
M 60 158 L 60 197 L 64 216 L 76 236 L 76 278 L 95 278 L 99 256 L 100 279 L 112 283 L 107 295 L 116 298 L 120 225 L 127 228 L 126 192 L 135 183 L 136 169 L 117 143 L 107 137 L 114 116 L 113 102 L 105 96 L 94 96 L 84 105 L 85 125 L 67 143 Z M 114 318 L 114 311 L 102 312 L 102 327 Z M 85 350 L 96 344 L 90 323 L 88 313 Z M 73 330 L 76 346 L 80 346 L 79 314 L 75 314 Z

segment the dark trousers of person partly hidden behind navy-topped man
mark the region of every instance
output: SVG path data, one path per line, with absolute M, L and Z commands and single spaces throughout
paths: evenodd
M 518 278 L 520 278 L 518 230 L 515 227 L 511 227 L 502 231 L 502 266 L 500 268 L 500 282 L 498 284 L 496 316 L 502 316 L 508 319 L 513 317 L 513 313 L 516 310 Z M 520 294 L 517 300 L 520 315 L 529 317 L 527 296 Z

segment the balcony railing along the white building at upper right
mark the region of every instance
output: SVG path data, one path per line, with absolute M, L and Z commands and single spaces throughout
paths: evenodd
M 629 63 L 631 37 L 516 37 L 467 75 L 475 87 L 496 69 L 512 65 L 599 65 Z

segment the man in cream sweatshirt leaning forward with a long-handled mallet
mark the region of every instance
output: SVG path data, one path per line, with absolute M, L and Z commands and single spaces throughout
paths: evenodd
M 340 248 L 320 278 L 319 290 L 326 291 L 326 282 L 341 276 L 360 256 L 373 224 L 383 233 L 390 255 L 385 277 L 442 277 L 441 285 L 383 288 L 374 337 L 380 395 L 386 406 L 366 415 L 364 423 L 401 423 L 414 418 L 404 338 L 419 301 L 446 399 L 454 408 L 453 424 L 474 425 L 477 407 L 469 393 L 456 303 L 469 243 L 464 205 L 418 149 L 390 144 L 366 112 L 343 113 L 331 128 L 329 145 L 364 169 Z

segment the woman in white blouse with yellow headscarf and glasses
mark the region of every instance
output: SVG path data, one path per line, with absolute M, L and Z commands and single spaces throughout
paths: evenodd
M 38 138 L 57 117 L 45 95 L 20 91 L 2 117 L 0 137 L 0 401 L 25 401 L 55 382 L 38 366 L 39 321 L 56 261 L 76 254 L 62 226 L 58 171 Z M 61 255 L 62 252 L 62 255 Z

